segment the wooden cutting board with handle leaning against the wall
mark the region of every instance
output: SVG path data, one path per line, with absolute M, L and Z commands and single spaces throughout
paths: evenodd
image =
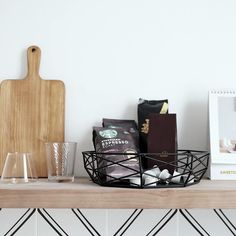
M 27 50 L 28 74 L 0 84 L 0 171 L 8 152 L 31 152 L 39 177 L 47 177 L 45 142 L 64 141 L 65 86 L 39 76 L 41 51 Z

